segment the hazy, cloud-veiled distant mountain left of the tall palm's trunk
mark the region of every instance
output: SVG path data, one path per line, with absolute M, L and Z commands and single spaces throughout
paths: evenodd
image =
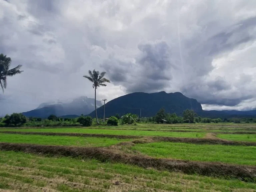
M 96 101 L 97 107 L 102 105 L 101 101 Z M 41 117 L 47 118 L 49 115 L 53 114 L 56 116 L 66 116 L 66 115 L 81 115 L 88 114 L 94 110 L 94 99 L 85 96 L 73 99 L 70 102 L 51 102 L 42 103 L 38 108 L 24 112 L 26 117 Z

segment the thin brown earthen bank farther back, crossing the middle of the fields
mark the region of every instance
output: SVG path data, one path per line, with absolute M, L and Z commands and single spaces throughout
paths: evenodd
M 138 139 L 132 141 L 134 144 L 151 143 L 151 142 L 178 142 L 178 143 L 193 143 L 193 144 L 209 144 L 209 145 L 242 145 L 256 146 L 256 142 L 245 141 L 228 141 L 215 138 L 187 138 L 187 137 L 149 137 L 149 136 L 133 136 L 133 135 L 108 135 L 108 134 L 87 134 L 87 133 L 47 133 L 47 132 L 19 132 L 19 131 L 1 131 L 0 133 L 21 134 L 21 135 L 56 135 L 56 136 L 78 136 L 78 137 L 107 137 L 119 139 Z M 123 142 L 122 142 L 123 143 Z M 121 143 L 121 144 L 122 144 Z M 124 142 L 126 144 L 126 142 Z

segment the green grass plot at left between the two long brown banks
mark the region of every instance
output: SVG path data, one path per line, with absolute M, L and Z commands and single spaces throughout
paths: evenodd
M 85 147 L 107 147 L 131 139 L 99 138 L 99 137 L 73 137 L 73 136 L 45 136 L 45 135 L 20 135 L 1 134 L 0 142 L 28 143 L 40 145 L 66 145 Z

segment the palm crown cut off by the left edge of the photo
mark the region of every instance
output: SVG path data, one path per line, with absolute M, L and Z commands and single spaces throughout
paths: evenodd
M 6 55 L 0 54 L 0 85 L 3 92 L 7 86 L 7 76 L 13 76 L 22 72 L 20 71 L 22 65 L 18 65 L 17 67 L 9 70 L 11 62 L 12 60 L 10 57 L 6 57 Z

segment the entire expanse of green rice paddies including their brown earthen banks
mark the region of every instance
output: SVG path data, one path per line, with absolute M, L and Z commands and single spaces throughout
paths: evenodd
M 0 128 L 0 191 L 256 191 L 256 124 Z

